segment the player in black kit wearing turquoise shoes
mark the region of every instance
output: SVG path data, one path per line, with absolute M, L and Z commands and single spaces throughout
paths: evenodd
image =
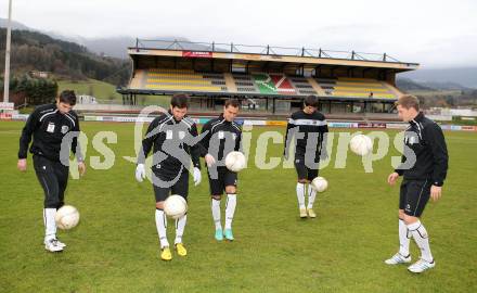
M 225 156 L 232 151 L 241 149 L 242 129 L 234 122 L 240 109 L 240 102 L 234 99 L 225 101 L 223 113 L 219 117 L 210 119 L 202 128 L 204 138 L 201 140 L 202 156 L 205 157 L 208 167 L 208 178 L 211 196 L 211 212 L 216 227 L 215 238 L 217 241 L 232 241 L 232 221 L 236 206 L 237 174 L 224 166 Z M 227 193 L 225 225 L 222 230 L 220 220 L 220 200 L 223 191 Z

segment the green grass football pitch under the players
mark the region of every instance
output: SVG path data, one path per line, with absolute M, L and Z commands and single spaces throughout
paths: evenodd
M 111 169 L 90 167 L 86 177 L 69 180 L 66 202 L 78 207 L 81 220 L 59 233 L 68 245 L 60 254 L 42 246 L 43 195 L 31 158 L 26 174 L 16 169 L 22 127 L 0 122 L 0 292 L 477 291 L 476 133 L 446 132 L 448 180 L 442 199 L 429 203 L 423 217 L 437 266 L 415 276 L 405 266 L 383 263 L 398 249 L 398 187 L 386 183 L 396 151 L 375 162 L 372 174 L 351 153 L 346 168 L 322 170 L 330 187 L 318 195 L 313 220 L 298 218 L 293 168 L 260 170 L 252 164 L 240 174 L 232 243 L 214 240 L 203 170 L 202 184 L 190 188 L 183 238 L 189 255 L 165 263 L 159 259 L 152 186 L 136 182 L 134 165 L 123 158 L 134 155 L 133 124 L 82 123 L 88 157 L 99 155 L 91 146 L 98 131 L 117 132 L 118 142 L 108 144 L 116 161 Z M 280 127 L 254 129 L 252 150 L 267 130 L 284 132 Z M 268 154 L 280 156 L 282 148 L 270 143 Z M 171 228 L 169 221 L 170 242 Z M 416 259 L 413 242 L 411 252 Z

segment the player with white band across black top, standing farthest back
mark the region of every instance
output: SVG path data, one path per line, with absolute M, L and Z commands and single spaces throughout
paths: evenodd
M 286 126 L 284 157 L 288 158 L 289 144 L 296 140 L 295 169 L 298 175 L 296 195 L 299 215 L 315 218 L 313 203 L 317 191 L 308 184 L 308 205 L 305 205 L 306 184 L 310 183 L 319 170 L 320 158 L 326 158 L 326 132 L 328 131 L 324 115 L 318 112 L 318 98 L 308 95 L 304 109 L 292 114 Z

